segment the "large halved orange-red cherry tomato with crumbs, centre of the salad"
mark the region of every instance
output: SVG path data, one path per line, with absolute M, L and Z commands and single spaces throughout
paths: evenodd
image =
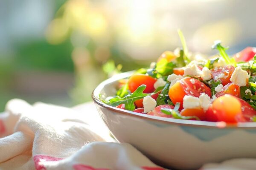
M 169 89 L 169 97 L 174 104 L 180 102 L 180 109 L 182 109 L 183 98 L 185 95 L 199 97 L 201 93 L 205 93 L 208 96 L 212 96 L 211 89 L 198 79 L 185 77 L 176 82 Z

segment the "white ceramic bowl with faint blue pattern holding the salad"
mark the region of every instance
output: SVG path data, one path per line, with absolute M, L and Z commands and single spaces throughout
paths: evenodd
M 132 144 L 156 164 L 183 170 L 197 169 L 207 162 L 256 158 L 256 123 L 225 125 L 163 118 L 114 108 L 99 100 L 99 94 L 115 95 L 117 80 L 130 75 L 127 72 L 107 79 L 92 94 L 117 141 Z

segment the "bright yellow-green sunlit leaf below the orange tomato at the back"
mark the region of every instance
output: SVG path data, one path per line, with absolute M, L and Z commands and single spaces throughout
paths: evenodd
M 168 62 L 167 59 L 161 59 L 157 62 L 156 71 L 162 76 L 166 76 L 173 73 L 173 68 L 177 67 L 174 62 Z

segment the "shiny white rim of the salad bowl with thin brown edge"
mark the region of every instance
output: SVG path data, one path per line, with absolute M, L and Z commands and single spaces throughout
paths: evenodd
M 226 123 L 226 122 L 208 122 L 208 121 L 198 121 L 198 120 L 184 120 L 184 119 L 174 119 L 174 118 L 165 118 L 160 116 L 152 116 L 142 113 L 136 113 L 133 111 L 127 111 L 120 108 L 115 108 L 113 106 L 107 105 L 103 103 L 99 99 L 100 91 L 105 87 L 105 85 L 111 84 L 116 82 L 120 79 L 127 78 L 133 74 L 134 71 L 128 71 L 121 74 L 116 74 L 113 77 L 106 79 L 105 81 L 101 82 L 92 92 L 92 99 L 96 105 L 99 105 L 103 108 L 106 108 L 111 111 L 115 111 L 116 113 L 125 114 L 128 116 L 133 116 L 141 119 L 147 119 L 154 122 L 161 122 L 165 124 L 172 124 L 172 125 L 182 125 L 182 126 L 189 126 L 189 127 L 206 127 L 206 128 L 232 128 L 232 129 L 256 129 L 256 122 L 244 122 L 244 123 Z

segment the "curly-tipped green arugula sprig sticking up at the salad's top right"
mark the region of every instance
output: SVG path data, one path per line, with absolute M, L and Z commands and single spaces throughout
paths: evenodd
M 227 55 L 226 50 L 228 48 L 224 48 L 223 46 L 221 46 L 221 41 L 215 41 L 214 45 L 212 45 L 212 48 L 219 51 L 220 55 L 223 57 L 227 65 L 233 65 L 234 67 L 236 67 L 236 60 L 234 58 L 230 58 Z

